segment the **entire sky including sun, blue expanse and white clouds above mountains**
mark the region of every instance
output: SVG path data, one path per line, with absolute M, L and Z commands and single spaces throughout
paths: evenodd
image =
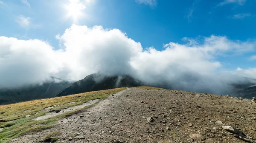
M 240 76 L 256 78 L 255 5 L 255 0 L 0 0 L 0 87 L 50 76 L 77 81 L 103 72 L 172 87 L 178 80 L 176 88 L 184 90 L 228 88 Z

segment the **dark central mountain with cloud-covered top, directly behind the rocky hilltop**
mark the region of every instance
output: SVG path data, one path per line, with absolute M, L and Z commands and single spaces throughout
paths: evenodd
M 137 87 L 142 85 L 143 84 L 141 81 L 125 74 L 116 76 L 104 76 L 99 73 L 93 73 L 89 76 L 86 76 L 84 79 L 71 84 L 55 97 L 119 87 Z

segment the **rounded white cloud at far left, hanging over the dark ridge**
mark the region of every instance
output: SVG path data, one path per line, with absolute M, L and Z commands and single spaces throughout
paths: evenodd
M 0 36 L 0 87 L 42 83 L 58 73 L 58 51 L 46 42 Z

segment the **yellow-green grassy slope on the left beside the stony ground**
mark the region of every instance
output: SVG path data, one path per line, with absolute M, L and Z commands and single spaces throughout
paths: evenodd
M 0 114 L 0 120 L 5 120 L 5 122 L 0 122 L 0 128 L 3 128 L 3 130 L 0 131 L 0 143 L 4 143 L 20 135 L 40 132 L 42 130 L 52 128 L 53 126 L 55 126 L 56 121 L 58 121 L 58 119 L 70 116 L 72 114 L 76 114 L 77 112 L 81 112 L 82 110 L 84 110 L 84 108 L 76 109 L 55 116 L 53 118 L 48 118 L 40 121 L 32 120 L 42 115 L 46 115 L 47 112 L 49 112 L 48 110 L 45 110 L 47 107 L 52 107 L 53 105 L 57 106 L 52 109 L 64 109 L 65 107 L 73 107 L 93 99 L 102 100 L 108 97 L 108 95 L 112 95 L 124 89 L 125 88 L 100 90 L 56 98 L 20 102 L 16 104 L 0 105 L 0 112 L 5 112 L 4 114 Z M 75 103 L 68 104 L 70 102 Z M 26 115 L 30 116 L 26 117 Z

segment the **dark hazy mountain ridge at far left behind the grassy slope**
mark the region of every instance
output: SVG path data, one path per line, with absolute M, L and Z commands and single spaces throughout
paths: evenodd
M 0 104 L 11 104 L 40 98 L 52 98 L 70 86 L 70 82 L 52 77 L 44 84 L 30 85 L 19 88 L 0 89 Z

